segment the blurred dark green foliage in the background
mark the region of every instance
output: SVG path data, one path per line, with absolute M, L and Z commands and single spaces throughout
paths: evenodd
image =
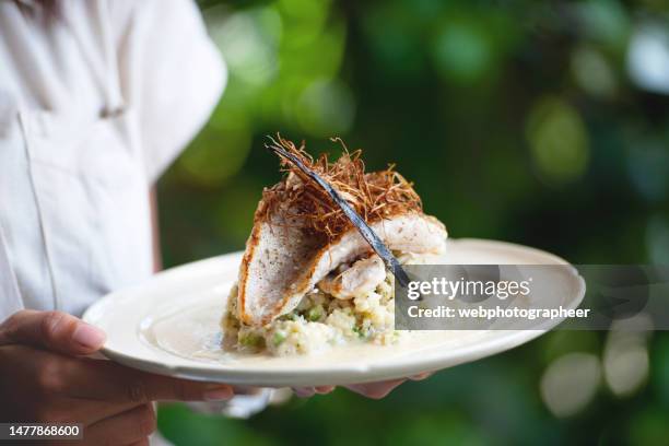
M 369 169 L 397 163 L 453 237 L 575 263 L 669 263 L 666 2 L 200 5 L 230 77 L 160 184 L 166 266 L 244 247 L 262 187 L 280 178 L 262 149 L 278 130 L 313 153 L 338 153 L 328 138 L 340 136 Z M 625 395 L 607 384 L 610 342 L 554 332 L 383 401 L 339 389 L 249 421 L 174 406 L 160 424 L 179 445 L 668 444 L 669 339 L 639 344 L 649 364 L 631 364 L 643 374 Z M 574 352 L 603 365 L 592 397 L 558 416 L 545 372 Z

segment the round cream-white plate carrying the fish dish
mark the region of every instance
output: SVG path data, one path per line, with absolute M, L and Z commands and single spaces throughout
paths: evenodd
M 453 265 L 566 265 L 551 254 L 502 242 L 451 239 Z M 250 386 L 317 386 L 398 378 L 513 349 L 547 330 L 413 331 L 398 345 L 333 348 L 315 356 L 223 353 L 219 319 L 242 253 L 174 268 L 109 294 L 83 318 L 107 332 L 103 354 L 163 375 Z M 562 305 L 575 308 L 585 283 L 573 268 L 554 279 Z M 556 325 L 560 320 L 555 320 Z M 547 327 L 550 328 L 550 327 Z

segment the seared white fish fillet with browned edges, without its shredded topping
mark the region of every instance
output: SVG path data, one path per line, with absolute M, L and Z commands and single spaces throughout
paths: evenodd
M 355 227 L 328 240 L 305 232 L 306 222 L 289 211 L 267 216 L 263 206 L 261 202 L 256 211 L 239 269 L 239 318 L 251 326 L 269 324 L 293 310 L 341 263 L 373 255 Z M 445 249 L 444 225 L 420 212 L 398 213 L 368 224 L 391 250 L 441 254 Z

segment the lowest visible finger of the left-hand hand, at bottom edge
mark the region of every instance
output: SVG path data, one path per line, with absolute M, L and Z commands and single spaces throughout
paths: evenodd
M 155 429 L 153 406 L 142 404 L 84 429 L 84 442 L 92 445 L 129 445 L 144 441 Z

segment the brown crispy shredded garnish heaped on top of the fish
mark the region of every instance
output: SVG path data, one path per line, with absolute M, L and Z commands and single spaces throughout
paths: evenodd
M 342 155 L 334 162 L 321 154 L 314 160 L 306 151 L 304 142 L 297 148 L 292 141 L 277 136 L 270 138 L 271 145 L 282 148 L 302 161 L 309 169 L 331 185 L 353 207 L 365 222 L 389 218 L 398 213 L 422 212 L 421 198 L 413 190 L 394 165 L 379 172 L 365 173 L 361 160 L 361 150 L 350 153 L 339 138 L 343 148 Z M 333 239 L 353 227 L 351 221 L 337 206 L 330 196 L 322 190 L 304 172 L 281 159 L 281 171 L 284 178 L 271 188 L 262 191 L 262 204 L 256 218 L 272 215 L 281 209 L 304 222 L 304 230 Z

